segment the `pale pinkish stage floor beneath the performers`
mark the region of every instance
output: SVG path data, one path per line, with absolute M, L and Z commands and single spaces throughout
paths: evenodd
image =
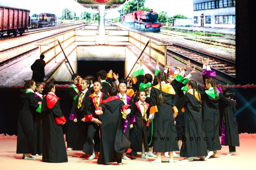
M 215 158 L 209 158 L 203 162 L 194 158 L 193 162 L 181 162 L 184 158 L 174 156 L 174 163 L 168 163 L 168 158 L 162 156 L 162 163 L 150 163 L 154 158 L 142 159 L 139 153 L 136 160 L 122 160 L 123 165 L 98 165 L 97 160 L 78 158 L 83 155 L 81 151 L 67 151 L 68 163 L 44 163 L 42 156 L 35 156 L 36 160 L 22 160 L 22 154 L 16 154 L 17 139 L 0 139 L 0 169 L 1 170 L 80 170 L 80 169 L 207 169 L 207 170 L 253 170 L 255 168 L 256 137 L 240 138 L 240 147 L 236 147 L 237 153 L 226 156 L 229 153 L 228 146 L 222 146 Z M 179 152 L 177 152 L 179 153 Z M 116 165 L 116 166 L 113 166 Z

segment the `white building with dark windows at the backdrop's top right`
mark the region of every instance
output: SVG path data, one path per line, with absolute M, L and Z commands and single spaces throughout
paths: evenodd
M 235 0 L 193 0 L 196 27 L 235 27 Z

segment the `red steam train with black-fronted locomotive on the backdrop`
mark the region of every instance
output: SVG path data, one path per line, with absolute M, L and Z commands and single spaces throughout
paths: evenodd
M 142 31 L 159 32 L 163 24 L 156 22 L 157 19 L 158 15 L 152 9 L 149 12 L 140 10 L 122 16 L 121 24 Z

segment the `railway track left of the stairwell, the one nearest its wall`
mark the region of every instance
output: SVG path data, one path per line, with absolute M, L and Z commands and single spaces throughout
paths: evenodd
M 88 24 L 90 24 L 90 23 L 88 23 Z M 29 41 L 29 42 L 25 42 L 23 44 L 20 44 L 20 45 L 11 47 L 11 48 L 0 50 L 0 66 L 4 65 L 6 63 L 9 63 L 10 61 L 13 61 L 13 60 L 25 55 L 25 54 L 28 54 L 28 53 L 31 53 L 32 51 L 37 50 L 38 46 L 35 47 L 35 45 L 34 45 L 34 43 L 36 43 L 36 42 L 40 42 L 42 40 L 49 39 L 50 37 L 54 37 L 54 36 L 57 36 L 59 34 L 63 34 L 64 32 L 68 32 L 68 31 L 71 31 L 71 30 L 74 30 L 74 29 L 79 29 L 79 28 L 81 28 L 85 25 L 86 24 L 83 24 L 81 26 L 78 26 L 78 27 L 75 27 L 75 28 L 72 28 L 72 29 L 69 29 L 69 30 L 66 30 L 66 31 L 58 32 L 58 33 L 53 34 L 51 36 L 39 38 L 39 39 Z

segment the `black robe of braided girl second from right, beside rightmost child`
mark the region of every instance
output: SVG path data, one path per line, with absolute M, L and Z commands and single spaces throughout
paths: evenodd
M 207 138 L 207 147 L 209 151 L 221 150 L 219 125 L 220 112 L 218 110 L 219 99 L 214 99 L 205 92 L 205 88 L 197 85 L 202 99 L 202 119 L 204 133 Z

